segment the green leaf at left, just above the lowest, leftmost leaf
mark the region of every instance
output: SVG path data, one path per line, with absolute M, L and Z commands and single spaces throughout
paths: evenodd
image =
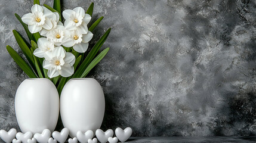
M 26 56 L 27 61 L 29 61 L 30 66 L 32 66 L 33 70 L 36 70 L 35 69 L 34 59 L 32 57 L 32 53 L 31 53 L 29 47 L 23 41 L 22 36 L 16 30 L 13 30 L 13 34 L 14 34 L 14 37 L 15 37 L 17 43 L 18 43 L 18 46 L 20 46 L 21 51 Z

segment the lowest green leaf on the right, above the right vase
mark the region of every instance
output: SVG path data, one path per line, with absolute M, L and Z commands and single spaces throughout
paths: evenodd
M 91 71 L 91 69 L 96 66 L 96 64 L 98 64 L 98 62 L 100 62 L 105 55 L 107 54 L 107 52 L 109 52 L 109 48 L 104 49 L 102 52 L 100 52 L 100 54 L 97 55 L 96 58 L 94 58 L 94 60 L 89 64 L 89 66 L 87 67 L 87 69 L 85 69 L 84 73 L 82 74 L 81 78 L 87 76 L 87 74 Z

